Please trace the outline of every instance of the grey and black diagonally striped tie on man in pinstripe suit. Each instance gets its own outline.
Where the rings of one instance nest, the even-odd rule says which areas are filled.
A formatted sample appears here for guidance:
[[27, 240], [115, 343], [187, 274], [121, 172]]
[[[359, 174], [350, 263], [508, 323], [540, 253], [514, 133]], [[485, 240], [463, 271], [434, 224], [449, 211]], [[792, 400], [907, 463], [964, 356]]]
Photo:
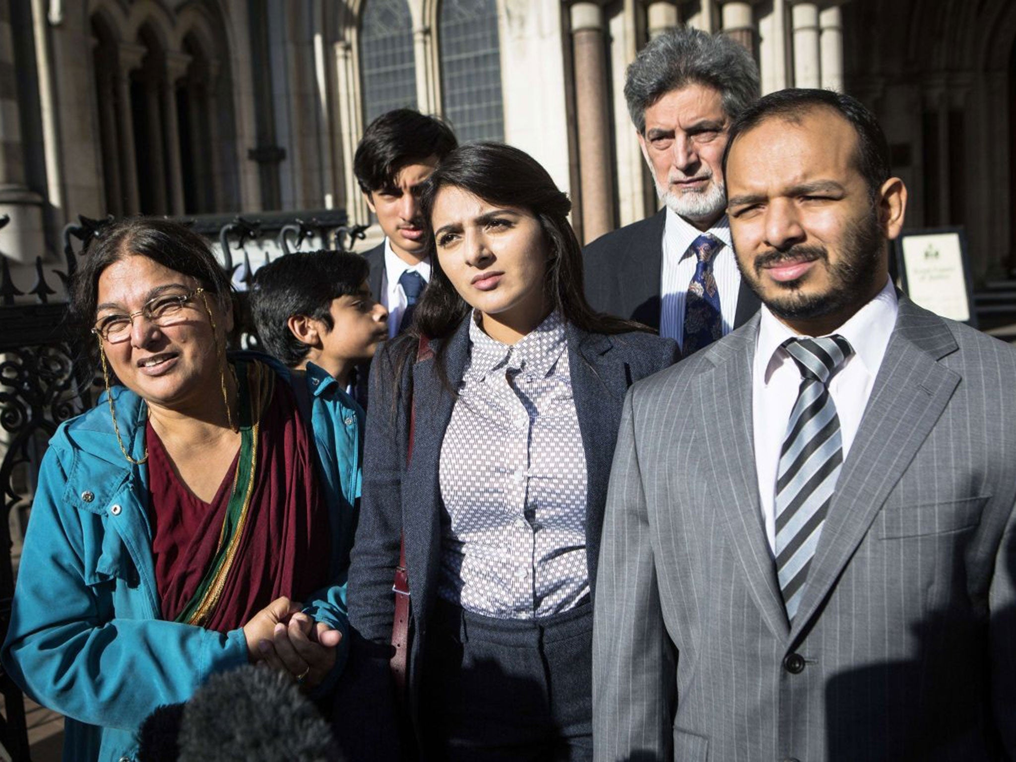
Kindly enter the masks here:
[[843, 464], [829, 379], [853, 350], [840, 335], [791, 338], [782, 347], [801, 371], [776, 470], [776, 576], [792, 622]]

